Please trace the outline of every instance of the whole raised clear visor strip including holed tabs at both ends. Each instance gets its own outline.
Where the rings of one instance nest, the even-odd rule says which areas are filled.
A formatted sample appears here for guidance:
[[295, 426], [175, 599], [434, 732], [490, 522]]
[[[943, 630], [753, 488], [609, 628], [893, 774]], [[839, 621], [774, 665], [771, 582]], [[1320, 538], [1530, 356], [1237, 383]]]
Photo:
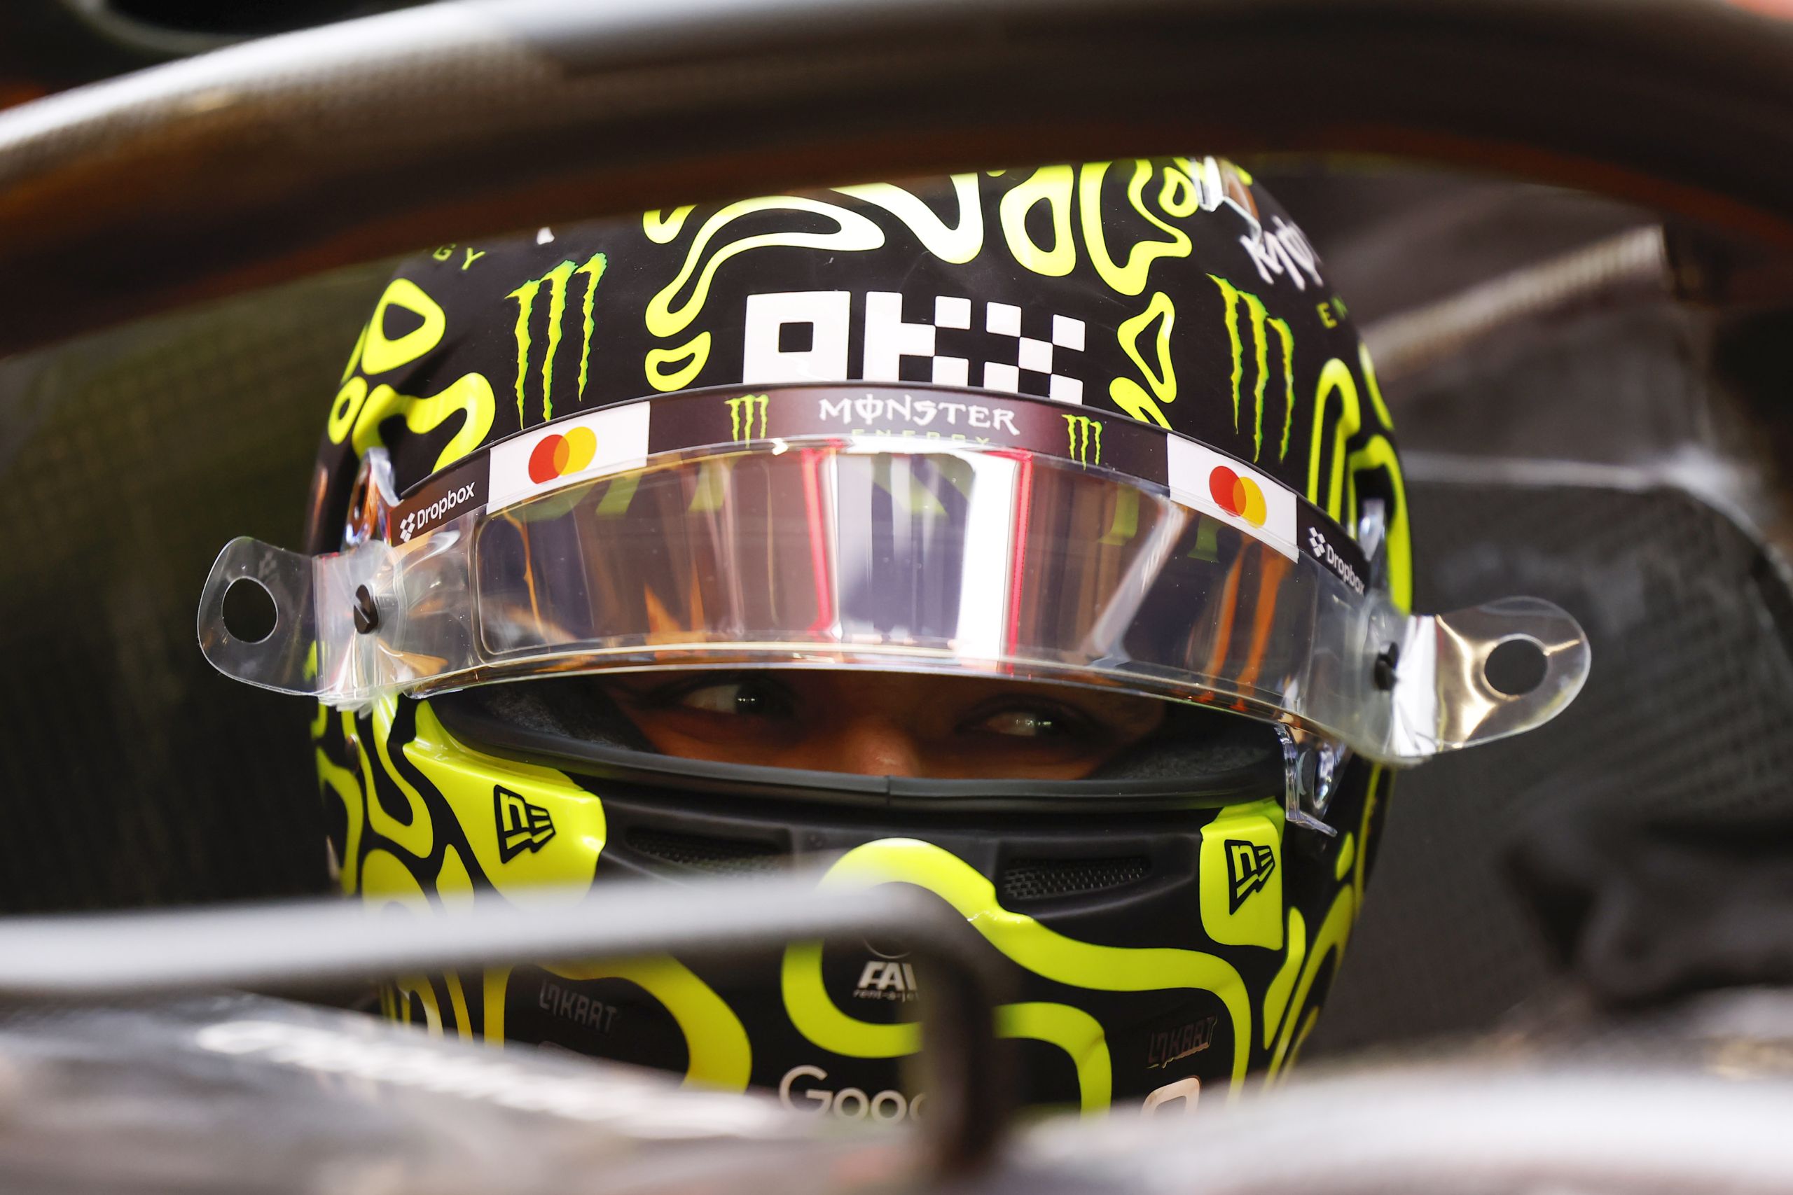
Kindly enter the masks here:
[[[1411, 618], [1257, 530], [1295, 525], [1287, 491], [1187, 500], [1182, 444], [1210, 453], [1173, 439], [1171, 486], [891, 435], [645, 466], [626, 448], [608, 477], [393, 545], [310, 561], [238, 541], [203, 611], [255, 577], [289, 611], [285, 636], [201, 638], [221, 670], [333, 704], [558, 672], [895, 668], [1113, 686], [1293, 722], [1388, 761], [1528, 729], [1580, 690], [1587, 645], [1556, 607]], [[1517, 695], [1483, 674], [1515, 638], [1544, 661]]]

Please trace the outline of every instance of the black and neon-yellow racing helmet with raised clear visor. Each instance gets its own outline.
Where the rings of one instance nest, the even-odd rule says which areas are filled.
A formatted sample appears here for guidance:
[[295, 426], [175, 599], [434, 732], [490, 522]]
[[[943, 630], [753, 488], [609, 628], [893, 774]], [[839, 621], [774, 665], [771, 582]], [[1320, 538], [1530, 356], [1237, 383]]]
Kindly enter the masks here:
[[[278, 611], [260, 640], [224, 616], [242, 584]], [[222, 672], [319, 702], [346, 894], [914, 885], [1009, 973], [1026, 1100], [1097, 1113], [1286, 1073], [1395, 772], [1580, 690], [1560, 609], [1411, 593], [1345, 301], [1246, 170], [1165, 158], [423, 253], [342, 371], [305, 550], [233, 541], [199, 629]], [[669, 754], [604, 684], [692, 670], [1056, 683], [1162, 720], [1069, 779], [868, 776]], [[902, 1120], [916, 987], [864, 941], [412, 976], [382, 1005]]]

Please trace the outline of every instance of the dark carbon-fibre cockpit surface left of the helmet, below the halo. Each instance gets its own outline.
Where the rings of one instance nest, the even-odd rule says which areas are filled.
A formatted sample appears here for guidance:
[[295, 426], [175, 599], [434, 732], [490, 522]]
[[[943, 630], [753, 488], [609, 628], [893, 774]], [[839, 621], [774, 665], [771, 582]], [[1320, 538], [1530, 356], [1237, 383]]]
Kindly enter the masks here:
[[0, 912], [325, 885], [303, 702], [199, 656], [233, 536], [298, 543], [385, 267], [0, 362]]

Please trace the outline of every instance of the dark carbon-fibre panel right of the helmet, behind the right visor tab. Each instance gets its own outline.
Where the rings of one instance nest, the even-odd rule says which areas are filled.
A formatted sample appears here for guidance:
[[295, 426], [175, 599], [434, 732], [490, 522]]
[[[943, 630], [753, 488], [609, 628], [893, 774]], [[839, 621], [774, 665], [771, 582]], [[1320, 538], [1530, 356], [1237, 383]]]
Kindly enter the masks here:
[[1418, 604], [1562, 604], [1594, 670], [1519, 740], [1404, 776], [1375, 883], [1307, 1057], [1488, 1028], [1565, 982], [1503, 856], [1553, 808], [1614, 819], [1793, 810], [1788, 588], [1728, 518], [1678, 491], [1418, 484]]

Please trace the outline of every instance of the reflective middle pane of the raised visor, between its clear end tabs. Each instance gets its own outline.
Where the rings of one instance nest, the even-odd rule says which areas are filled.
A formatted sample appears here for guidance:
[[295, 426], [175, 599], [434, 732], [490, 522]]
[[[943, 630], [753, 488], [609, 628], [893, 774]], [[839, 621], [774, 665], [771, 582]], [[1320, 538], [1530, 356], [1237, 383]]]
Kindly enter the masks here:
[[977, 451], [803, 448], [628, 473], [482, 520], [472, 559], [493, 663], [570, 645], [848, 647], [1128, 686], [1225, 677], [1252, 699], [1311, 656], [1334, 588], [1164, 496]]

